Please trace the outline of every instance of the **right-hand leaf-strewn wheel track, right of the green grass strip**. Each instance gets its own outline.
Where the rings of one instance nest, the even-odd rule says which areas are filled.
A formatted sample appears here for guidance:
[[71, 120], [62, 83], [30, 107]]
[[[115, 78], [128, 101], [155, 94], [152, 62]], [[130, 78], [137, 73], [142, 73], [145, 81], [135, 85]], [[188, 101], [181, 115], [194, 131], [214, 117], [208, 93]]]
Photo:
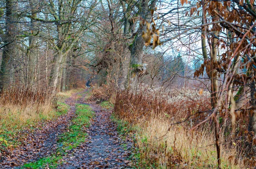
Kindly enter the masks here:
[[[85, 104], [85, 103], [84, 103]], [[129, 169], [131, 142], [120, 138], [116, 124], [111, 120], [111, 110], [98, 104], [88, 104], [95, 117], [87, 129], [87, 140], [73, 152], [63, 157], [59, 169]]]

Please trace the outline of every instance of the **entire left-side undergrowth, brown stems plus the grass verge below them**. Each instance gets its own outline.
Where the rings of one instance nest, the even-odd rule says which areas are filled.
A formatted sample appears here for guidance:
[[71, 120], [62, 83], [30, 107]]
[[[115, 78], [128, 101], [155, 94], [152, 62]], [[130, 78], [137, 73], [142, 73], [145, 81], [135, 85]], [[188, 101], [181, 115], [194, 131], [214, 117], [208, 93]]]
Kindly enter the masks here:
[[56, 94], [51, 90], [14, 88], [0, 95], [0, 153], [6, 147], [20, 145], [21, 130], [33, 130], [39, 122], [67, 113], [64, 100], [80, 90]]

